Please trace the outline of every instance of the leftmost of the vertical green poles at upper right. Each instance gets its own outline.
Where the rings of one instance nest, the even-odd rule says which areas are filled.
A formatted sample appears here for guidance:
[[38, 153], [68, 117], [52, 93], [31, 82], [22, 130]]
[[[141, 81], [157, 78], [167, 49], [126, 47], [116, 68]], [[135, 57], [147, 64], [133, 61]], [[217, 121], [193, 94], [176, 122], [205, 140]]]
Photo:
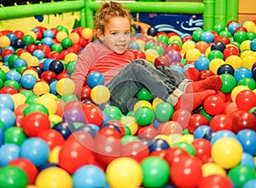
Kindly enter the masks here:
[[214, 25], [214, 0], [204, 0], [203, 30], [212, 30]]

